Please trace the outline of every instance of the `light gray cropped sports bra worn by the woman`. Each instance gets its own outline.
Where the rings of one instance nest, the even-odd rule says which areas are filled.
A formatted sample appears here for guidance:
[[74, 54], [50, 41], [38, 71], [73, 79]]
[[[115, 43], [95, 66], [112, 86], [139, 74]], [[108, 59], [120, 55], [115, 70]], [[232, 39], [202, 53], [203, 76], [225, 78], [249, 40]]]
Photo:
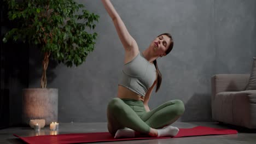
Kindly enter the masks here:
[[124, 64], [118, 85], [124, 86], [144, 97], [155, 79], [155, 65], [148, 62], [143, 53], [139, 52], [131, 62]]

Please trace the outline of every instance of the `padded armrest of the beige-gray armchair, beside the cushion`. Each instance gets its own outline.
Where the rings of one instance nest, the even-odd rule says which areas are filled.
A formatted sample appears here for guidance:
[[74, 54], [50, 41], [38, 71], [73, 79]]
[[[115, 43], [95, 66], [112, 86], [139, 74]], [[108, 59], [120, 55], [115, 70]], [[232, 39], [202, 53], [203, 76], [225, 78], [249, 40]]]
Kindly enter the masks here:
[[244, 91], [249, 81], [249, 74], [217, 74], [211, 78], [212, 100], [219, 92]]

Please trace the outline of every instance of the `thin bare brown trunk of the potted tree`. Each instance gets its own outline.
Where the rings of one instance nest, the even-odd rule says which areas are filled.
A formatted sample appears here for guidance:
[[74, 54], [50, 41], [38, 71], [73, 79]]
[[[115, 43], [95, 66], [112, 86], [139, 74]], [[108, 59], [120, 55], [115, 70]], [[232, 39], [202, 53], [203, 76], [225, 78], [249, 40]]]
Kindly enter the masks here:
[[46, 70], [48, 68], [49, 56], [50, 56], [50, 52], [49, 53], [48, 52], [44, 53], [43, 74], [42, 74], [42, 77], [41, 77], [41, 84], [40, 84], [41, 88], [46, 88], [46, 85], [47, 85]]

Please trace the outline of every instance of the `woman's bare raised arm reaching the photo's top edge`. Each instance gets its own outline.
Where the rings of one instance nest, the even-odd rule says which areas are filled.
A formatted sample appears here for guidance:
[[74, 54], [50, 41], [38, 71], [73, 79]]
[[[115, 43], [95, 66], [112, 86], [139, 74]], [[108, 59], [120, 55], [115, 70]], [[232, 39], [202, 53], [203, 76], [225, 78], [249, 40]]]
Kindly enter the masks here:
[[125, 51], [138, 50], [135, 39], [133, 39], [130, 33], [127, 31], [124, 22], [121, 20], [121, 17], [118, 15], [112, 3], [109, 0], [102, 0], [102, 3], [114, 22], [115, 29], [117, 29], [118, 36], [124, 46]]

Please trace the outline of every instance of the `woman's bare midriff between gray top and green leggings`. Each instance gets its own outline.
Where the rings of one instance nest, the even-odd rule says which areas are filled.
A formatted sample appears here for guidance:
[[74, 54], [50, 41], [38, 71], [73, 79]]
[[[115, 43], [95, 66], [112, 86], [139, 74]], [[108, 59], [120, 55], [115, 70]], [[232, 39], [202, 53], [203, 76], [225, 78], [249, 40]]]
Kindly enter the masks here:
[[130, 89], [120, 86], [120, 85], [118, 86], [118, 98], [144, 101], [144, 97], [142, 97], [141, 95], [138, 95], [137, 93], [132, 92]]

